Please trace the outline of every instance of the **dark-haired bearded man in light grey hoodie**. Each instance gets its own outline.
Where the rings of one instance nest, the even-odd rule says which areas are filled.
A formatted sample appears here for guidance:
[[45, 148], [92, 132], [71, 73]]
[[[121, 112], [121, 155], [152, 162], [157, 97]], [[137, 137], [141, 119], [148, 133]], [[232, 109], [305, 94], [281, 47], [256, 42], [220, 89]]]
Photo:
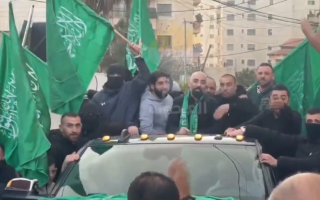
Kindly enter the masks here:
[[140, 131], [144, 134], [164, 134], [173, 99], [168, 94], [169, 75], [155, 71], [149, 78], [149, 87], [141, 97]]

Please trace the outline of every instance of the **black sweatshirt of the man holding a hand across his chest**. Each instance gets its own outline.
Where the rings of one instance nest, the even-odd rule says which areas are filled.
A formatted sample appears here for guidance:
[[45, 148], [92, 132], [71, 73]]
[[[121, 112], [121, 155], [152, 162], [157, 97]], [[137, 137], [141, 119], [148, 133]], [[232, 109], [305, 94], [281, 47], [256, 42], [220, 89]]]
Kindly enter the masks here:
[[239, 125], [253, 116], [258, 112], [252, 101], [248, 98], [239, 98], [234, 95], [229, 98], [224, 98], [221, 94], [214, 96], [217, 100], [217, 105], [229, 104], [229, 111], [220, 120], [223, 131], [228, 127], [234, 127]]

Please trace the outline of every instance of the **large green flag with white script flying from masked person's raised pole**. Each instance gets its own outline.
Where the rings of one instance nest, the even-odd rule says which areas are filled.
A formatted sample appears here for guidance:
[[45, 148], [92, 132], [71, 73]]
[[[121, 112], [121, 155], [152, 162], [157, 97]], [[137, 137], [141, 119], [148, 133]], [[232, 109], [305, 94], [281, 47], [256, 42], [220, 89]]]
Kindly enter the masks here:
[[112, 25], [82, 1], [46, 1], [46, 53], [52, 112], [78, 112], [112, 39]]

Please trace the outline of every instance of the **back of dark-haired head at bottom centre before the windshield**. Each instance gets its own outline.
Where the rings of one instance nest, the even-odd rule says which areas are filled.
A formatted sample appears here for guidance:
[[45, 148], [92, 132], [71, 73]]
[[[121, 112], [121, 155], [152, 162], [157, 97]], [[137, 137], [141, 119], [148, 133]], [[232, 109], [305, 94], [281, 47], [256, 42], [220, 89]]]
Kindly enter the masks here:
[[143, 172], [130, 183], [128, 200], [179, 200], [173, 180], [158, 172]]

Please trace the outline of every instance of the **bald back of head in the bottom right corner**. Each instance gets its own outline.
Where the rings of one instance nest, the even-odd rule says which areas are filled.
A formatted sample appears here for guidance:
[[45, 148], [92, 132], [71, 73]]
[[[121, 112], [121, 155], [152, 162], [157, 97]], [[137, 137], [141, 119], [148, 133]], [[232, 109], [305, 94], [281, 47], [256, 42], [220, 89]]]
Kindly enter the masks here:
[[298, 173], [280, 182], [270, 194], [269, 200], [318, 200], [320, 199], [320, 175]]

